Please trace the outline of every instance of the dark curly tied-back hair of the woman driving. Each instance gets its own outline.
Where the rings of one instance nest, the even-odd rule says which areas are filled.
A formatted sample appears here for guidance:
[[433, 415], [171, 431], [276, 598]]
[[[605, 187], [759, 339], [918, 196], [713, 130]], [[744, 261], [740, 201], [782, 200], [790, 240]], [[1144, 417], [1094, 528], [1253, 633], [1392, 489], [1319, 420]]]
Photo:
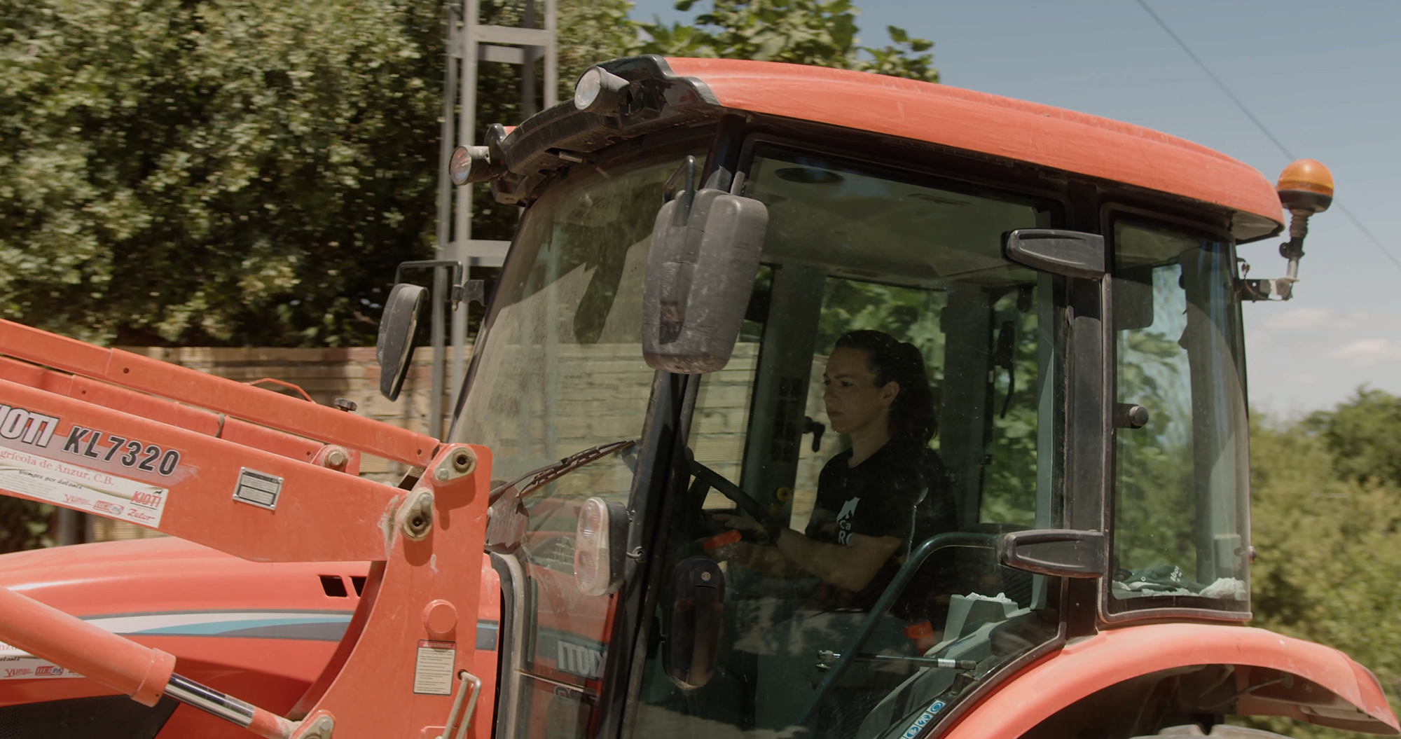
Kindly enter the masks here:
[[836, 340], [835, 349], [859, 349], [866, 353], [876, 386], [899, 385], [899, 395], [890, 404], [891, 435], [929, 444], [939, 432], [934, 417], [934, 392], [925, 372], [925, 356], [915, 344], [899, 342], [878, 330], [855, 330]]

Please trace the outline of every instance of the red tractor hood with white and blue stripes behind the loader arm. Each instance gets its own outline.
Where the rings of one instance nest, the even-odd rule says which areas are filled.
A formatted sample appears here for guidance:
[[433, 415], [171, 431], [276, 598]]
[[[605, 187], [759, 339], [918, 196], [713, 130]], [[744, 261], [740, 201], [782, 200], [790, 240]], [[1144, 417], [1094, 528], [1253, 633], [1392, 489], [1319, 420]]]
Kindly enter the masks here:
[[[368, 568], [254, 563], [163, 537], [6, 554], [0, 586], [170, 652], [181, 675], [286, 714], [336, 651]], [[499, 588], [486, 556], [482, 586], [488, 593]], [[483, 676], [482, 715], [490, 715], [493, 700], [499, 607], [497, 598], [482, 598], [475, 626], [471, 669]], [[50, 662], [0, 652], [0, 707], [112, 694]], [[249, 733], [181, 705], [158, 736]]]

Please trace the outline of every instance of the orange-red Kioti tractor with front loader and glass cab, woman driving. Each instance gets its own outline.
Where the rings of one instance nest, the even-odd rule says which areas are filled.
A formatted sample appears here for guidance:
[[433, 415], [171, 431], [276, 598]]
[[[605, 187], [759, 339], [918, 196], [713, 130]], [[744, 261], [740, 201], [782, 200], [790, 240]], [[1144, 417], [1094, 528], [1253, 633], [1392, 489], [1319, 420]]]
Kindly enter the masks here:
[[646, 56], [451, 172], [525, 210], [446, 441], [0, 323], [0, 488], [172, 536], [0, 558], [0, 738], [1398, 733], [1245, 626], [1241, 302], [1317, 162]]

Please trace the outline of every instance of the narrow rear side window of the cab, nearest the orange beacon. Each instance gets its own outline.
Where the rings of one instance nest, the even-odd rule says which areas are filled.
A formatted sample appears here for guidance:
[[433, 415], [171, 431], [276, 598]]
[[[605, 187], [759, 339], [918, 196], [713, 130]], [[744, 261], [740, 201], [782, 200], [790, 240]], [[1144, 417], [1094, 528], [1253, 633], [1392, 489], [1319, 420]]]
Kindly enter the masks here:
[[1149, 414], [1115, 431], [1114, 598], [1245, 610], [1245, 374], [1230, 245], [1147, 224], [1114, 232], [1117, 399]]

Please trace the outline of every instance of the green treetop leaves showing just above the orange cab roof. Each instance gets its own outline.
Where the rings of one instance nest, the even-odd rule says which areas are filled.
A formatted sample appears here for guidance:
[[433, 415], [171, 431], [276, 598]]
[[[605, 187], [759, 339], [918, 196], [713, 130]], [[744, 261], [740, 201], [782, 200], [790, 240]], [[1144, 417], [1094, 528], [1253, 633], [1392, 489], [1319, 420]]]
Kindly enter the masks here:
[[[691, 10], [695, 0], [679, 0], [677, 10]], [[640, 24], [650, 36], [644, 53], [757, 59], [821, 67], [874, 71], [892, 77], [939, 81], [933, 42], [909, 38], [901, 28], [887, 28], [891, 43], [860, 46], [856, 6], [850, 0], [713, 0], [695, 25]]]

